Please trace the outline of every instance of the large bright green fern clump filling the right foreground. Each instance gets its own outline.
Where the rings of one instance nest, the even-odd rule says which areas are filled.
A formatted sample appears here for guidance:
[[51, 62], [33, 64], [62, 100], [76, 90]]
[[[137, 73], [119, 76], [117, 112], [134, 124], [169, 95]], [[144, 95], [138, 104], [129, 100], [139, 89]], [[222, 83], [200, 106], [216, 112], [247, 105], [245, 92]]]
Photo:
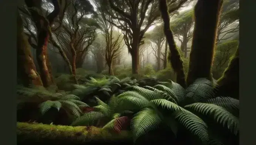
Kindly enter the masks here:
[[207, 79], [197, 79], [186, 90], [175, 82], [160, 82], [145, 88], [132, 86], [132, 89], [134, 91], [116, 97], [119, 102], [116, 110], [138, 112], [131, 120], [135, 140], [164, 123], [174, 134], [177, 130], [172, 124], [180, 124], [202, 142], [208, 142], [212, 137], [207, 128], [212, 124], [206, 124], [208, 120], [199, 117], [201, 115], [213, 117], [212, 121], [216, 124], [235, 135], [238, 133], [238, 119], [228, 111], [230, 108], [238, 110], [238, 104], [228, 97], [222, 97], [225, 103], [219, 103], [220, 99], [213, 98], [212, 82]]

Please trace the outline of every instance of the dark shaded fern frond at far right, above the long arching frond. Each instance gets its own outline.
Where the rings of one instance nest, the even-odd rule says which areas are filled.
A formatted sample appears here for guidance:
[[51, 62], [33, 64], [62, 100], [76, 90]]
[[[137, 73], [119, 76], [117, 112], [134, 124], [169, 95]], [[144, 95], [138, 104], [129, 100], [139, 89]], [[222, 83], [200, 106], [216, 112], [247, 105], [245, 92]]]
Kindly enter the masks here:
[[239, 116], [239, 100], [231, 97], [216, 97], [206, 100], [205, 103], [215, 104], [225, 108], [236, 117]]

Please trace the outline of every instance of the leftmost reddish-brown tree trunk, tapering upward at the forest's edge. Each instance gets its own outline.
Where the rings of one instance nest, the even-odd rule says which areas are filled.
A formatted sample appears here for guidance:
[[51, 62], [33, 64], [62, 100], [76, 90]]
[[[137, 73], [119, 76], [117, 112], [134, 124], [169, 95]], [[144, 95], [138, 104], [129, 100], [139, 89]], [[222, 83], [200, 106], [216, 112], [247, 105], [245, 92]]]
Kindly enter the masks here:
[[23, 24], [20, 14], [17, 16], [17, 70], [18, 78], [24, 86], [43, 86], [40, 75], [36, 71], [36, 66], [31, 56], [30, 45], [23, 32]]

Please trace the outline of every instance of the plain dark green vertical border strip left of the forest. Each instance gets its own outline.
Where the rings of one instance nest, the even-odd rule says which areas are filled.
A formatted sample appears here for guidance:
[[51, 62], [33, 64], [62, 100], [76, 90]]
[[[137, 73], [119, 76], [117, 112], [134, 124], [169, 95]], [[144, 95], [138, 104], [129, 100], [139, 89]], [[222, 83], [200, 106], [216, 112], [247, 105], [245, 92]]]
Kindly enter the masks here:
[[17, 0], [1, 0], [0, 15], [0, 144], [16, 145]]

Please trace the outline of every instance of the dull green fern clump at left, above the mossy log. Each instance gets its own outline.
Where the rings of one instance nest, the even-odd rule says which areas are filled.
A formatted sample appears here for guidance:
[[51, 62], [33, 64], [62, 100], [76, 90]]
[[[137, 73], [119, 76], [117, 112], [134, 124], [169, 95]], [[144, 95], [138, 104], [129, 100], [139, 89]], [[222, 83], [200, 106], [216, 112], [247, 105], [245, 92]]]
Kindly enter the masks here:
[[79, 117], [82, 113], [80, 107], [88, 106], [81, 102], [78, 96], [67, 94], [67, 92], [51, 92], [43, 87], [25, 88], [18, 86], [18, 107], [22, 107], [25, 103], [34, 103], [38, 105], [42, 115], [51, 108], [58, 111], [64, 109], [67, 114]]

